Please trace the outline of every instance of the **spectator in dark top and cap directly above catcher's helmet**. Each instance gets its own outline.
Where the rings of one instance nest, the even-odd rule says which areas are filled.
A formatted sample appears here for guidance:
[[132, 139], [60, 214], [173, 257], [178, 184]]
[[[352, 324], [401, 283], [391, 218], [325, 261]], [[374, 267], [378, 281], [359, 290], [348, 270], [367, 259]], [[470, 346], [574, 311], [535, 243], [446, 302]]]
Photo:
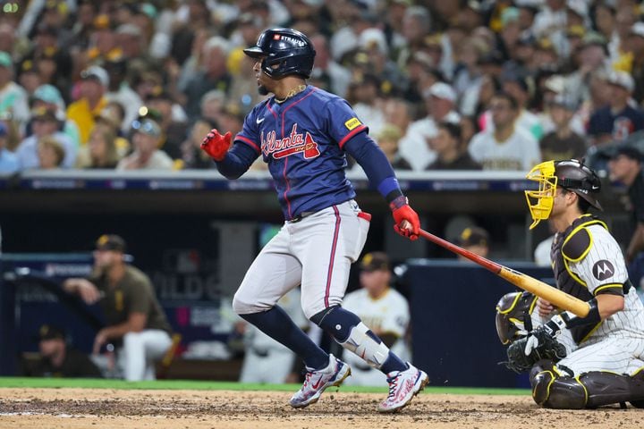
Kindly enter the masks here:
[[555, 130], [539, 141], [542, 159], [581, 159], [586, 154], [586, 140], [571, 130], [577, 103], [570, 96], [557, 94], [549, 104], [550, 119], [555, 124]]

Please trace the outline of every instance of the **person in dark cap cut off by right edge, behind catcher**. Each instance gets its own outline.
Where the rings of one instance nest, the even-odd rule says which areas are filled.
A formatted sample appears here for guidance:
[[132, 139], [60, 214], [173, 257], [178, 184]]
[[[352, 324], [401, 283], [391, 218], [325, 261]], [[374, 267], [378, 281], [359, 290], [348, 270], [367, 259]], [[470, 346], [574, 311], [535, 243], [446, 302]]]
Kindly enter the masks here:
[[631, 241], [624, 258], [631, 264], [644, 250], [644, 172], [641, 169], [642, 154], [636, 147], [618, 147], [608, 162], [610, 180], [628, 187], [628, 195], [634, 219]]

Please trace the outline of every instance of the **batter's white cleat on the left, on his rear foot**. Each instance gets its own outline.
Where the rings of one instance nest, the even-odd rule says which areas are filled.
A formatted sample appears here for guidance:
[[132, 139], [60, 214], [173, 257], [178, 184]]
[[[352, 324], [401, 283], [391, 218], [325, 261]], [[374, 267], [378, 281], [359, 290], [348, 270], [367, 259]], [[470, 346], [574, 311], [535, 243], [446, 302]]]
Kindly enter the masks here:
[[304, 408], [319, 400], [327, 387], [339, 386], [351, 375], [351, 367], [333, 355], [329, 355], [329, 365], [323, 369], [306, 368], [306, 378], [299, 391], [296, 391], [289, 403], [292, 408]]

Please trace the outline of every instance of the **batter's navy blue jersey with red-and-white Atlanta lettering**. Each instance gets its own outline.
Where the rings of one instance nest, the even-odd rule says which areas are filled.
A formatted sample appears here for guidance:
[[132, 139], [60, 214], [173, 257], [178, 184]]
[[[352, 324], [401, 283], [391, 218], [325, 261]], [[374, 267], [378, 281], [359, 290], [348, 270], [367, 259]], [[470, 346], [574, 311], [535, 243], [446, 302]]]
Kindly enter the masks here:
[[290, 220], [355, 197], [344, 174], [343, 145], [367, 130], [345, 100], [309, 85], [283, 103], [270, 97], [256, 105], [235, 141], [268, 164]]

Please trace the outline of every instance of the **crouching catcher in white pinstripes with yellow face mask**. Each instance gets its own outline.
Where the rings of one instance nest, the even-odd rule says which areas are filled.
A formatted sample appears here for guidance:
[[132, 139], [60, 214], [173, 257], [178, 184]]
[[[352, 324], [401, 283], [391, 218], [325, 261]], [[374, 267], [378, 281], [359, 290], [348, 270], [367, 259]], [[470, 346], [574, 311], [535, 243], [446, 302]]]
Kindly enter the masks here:
[[[601, 184], [577, 160], [548, 161], [528, 174], [534, 228], [548, 219], [556, 234], [550, 252], [556, 287], [587, 301], [589, 315], [560, 311], [528, 292], [496, 306], [496, 330], [508, 348], [507, 366], [530, 371], [532, 397], [547, 408], [597, 408], [620, 403], [644, 408], [644, 306], [601, 210]], [[534, 326], [535, 329], [532, 329]]]

